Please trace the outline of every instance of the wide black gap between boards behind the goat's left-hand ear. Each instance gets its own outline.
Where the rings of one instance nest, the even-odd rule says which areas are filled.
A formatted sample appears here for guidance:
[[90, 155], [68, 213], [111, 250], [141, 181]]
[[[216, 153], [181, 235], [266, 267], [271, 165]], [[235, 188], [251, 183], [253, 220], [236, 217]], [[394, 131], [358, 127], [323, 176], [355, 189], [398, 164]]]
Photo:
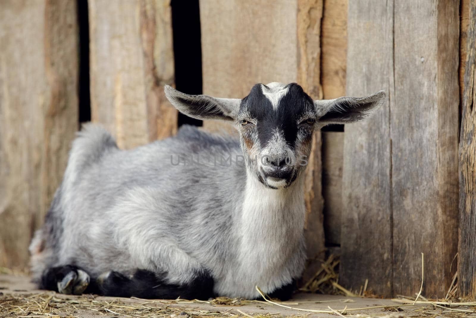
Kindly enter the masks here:
[[[187, 94], [202, 93], [202, 47], [198, 0], [172, 0], [175, 85]], [[202, 121], [178, 114], [178, 126], [201, 126]]]

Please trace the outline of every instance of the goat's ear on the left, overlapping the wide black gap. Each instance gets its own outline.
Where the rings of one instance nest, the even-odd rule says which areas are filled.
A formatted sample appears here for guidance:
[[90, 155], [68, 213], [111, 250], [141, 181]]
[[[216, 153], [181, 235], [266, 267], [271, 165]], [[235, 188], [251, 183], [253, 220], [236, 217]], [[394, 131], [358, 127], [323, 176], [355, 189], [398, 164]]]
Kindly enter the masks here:
[[234, 120], [241, 103], [237, 98], [188, 95], [178, 92], [169, 85], [165, 85], [164, 91], [167, 99], [180, 113], [196, 119]]

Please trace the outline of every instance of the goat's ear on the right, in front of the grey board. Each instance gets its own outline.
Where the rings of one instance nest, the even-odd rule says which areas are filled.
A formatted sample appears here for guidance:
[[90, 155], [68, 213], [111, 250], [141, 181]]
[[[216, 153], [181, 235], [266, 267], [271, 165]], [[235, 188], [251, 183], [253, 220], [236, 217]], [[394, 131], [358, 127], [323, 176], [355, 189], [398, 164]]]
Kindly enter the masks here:
[[372, 116], [385, 102], [385, 92], [380, 91], [367, 97], [339, 97], [331, 100], [314, 101], [319, 123], [355, 123]]

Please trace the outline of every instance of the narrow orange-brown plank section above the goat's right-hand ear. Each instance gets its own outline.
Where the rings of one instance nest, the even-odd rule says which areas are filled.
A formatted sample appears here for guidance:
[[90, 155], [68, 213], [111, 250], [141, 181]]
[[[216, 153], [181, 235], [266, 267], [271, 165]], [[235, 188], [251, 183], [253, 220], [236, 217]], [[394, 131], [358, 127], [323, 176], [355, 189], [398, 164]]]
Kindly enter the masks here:
[[324, 1], [321, 84], [325, 99], [346, 94], [348, 0]]

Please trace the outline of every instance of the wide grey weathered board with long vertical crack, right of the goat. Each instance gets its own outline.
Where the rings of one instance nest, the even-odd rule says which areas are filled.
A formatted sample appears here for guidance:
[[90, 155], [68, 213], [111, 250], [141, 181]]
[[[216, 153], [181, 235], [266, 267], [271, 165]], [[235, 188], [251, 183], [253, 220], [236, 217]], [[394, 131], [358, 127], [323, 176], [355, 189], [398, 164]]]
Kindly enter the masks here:
[[[349, 2], [347, 94], [384, 89], [346, 125], [342, 284], [444, 297], [456, 268], [459, 3]], [[385, 239], [384, 239], [385, 238]], [[371, 266], [370, 266], [371, 265]], [[356, 275], [358, 273], [358, 275]]]

